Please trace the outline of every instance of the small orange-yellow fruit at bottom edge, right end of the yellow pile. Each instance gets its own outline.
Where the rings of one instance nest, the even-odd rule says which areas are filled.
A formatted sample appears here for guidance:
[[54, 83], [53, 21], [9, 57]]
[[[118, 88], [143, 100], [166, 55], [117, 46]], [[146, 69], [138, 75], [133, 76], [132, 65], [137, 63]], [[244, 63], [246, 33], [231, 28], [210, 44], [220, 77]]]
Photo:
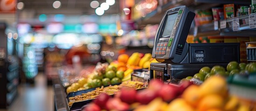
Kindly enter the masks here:
[[230, 96], [228, 102], [226, 103], [224, 110], [225, 111], [235, 111], [239, 105], [239, 100], [235, 96]]

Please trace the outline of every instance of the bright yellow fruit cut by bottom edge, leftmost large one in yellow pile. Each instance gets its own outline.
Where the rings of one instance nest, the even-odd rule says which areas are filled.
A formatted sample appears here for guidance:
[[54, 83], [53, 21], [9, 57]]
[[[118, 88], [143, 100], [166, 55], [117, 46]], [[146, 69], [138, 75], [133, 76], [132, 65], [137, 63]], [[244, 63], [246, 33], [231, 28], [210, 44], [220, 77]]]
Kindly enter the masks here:
[[194, 111], [184, 99], [174, 99], [166, 108], [166, 111]]

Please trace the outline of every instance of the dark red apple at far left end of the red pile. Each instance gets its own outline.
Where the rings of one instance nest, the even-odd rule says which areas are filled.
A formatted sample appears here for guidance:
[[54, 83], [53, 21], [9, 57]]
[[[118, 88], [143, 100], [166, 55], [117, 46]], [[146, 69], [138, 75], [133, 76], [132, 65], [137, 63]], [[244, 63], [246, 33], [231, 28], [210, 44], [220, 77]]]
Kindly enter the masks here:
[[94, 99], [93, 102], [100, 106], [102, 109], [106, 108], [106, 103], [110, 99], [110, 96], [106, 93], [101, 93], [97, 99]]

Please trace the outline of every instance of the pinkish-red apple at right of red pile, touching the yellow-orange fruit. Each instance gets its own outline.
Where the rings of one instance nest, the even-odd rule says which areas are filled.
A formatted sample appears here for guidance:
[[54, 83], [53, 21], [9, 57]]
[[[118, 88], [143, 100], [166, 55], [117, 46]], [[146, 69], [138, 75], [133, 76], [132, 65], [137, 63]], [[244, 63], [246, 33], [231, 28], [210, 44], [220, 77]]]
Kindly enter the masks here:
[[161, 97], [164, 101], [170, 102], [172, 99], [176, 98], [179, 93], [179, 89], [174, 86], [165, 84], [158, 91], [158, 96]]

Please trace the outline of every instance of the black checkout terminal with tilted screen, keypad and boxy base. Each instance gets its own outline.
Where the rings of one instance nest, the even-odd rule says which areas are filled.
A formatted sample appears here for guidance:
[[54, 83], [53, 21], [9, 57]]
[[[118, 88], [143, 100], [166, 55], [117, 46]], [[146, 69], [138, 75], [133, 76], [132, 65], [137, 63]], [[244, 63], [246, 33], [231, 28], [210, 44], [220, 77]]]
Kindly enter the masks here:
[[193, 76], [204, 67], [240, 62], [239, 43], [187, 43], [195, 13], [186, 6], [166, 11], [155, 37], [150, 78], [161, 81]]

